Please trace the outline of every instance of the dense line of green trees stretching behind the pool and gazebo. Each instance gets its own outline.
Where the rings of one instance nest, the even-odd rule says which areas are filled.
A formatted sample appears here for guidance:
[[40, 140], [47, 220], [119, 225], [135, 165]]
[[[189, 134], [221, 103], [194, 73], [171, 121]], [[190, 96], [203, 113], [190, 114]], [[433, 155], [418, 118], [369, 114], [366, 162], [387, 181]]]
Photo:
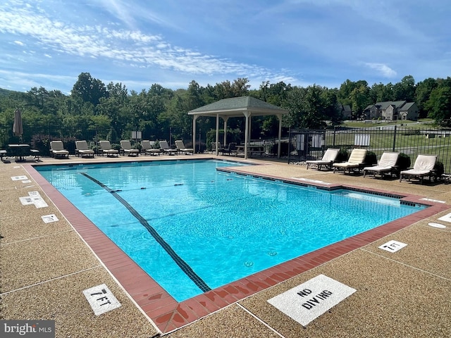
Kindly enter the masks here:
[[[193, 80], [187, 89], [174, 91], [152, 84], [139, 93], [129, 93], [121, 83], [105, 85], [89, 73], [80, 73], [70, 95], [44, 87], [32, 87], [28, 92], [0, 89], [0, 146], [16, 142], [11, 128], [13, 112], [18, 107], [23, 112], [24, 142], [44, 139], [42, 135], [47, 139], [63, 136], [94, 139], [93, 134], [97, 139], [118, 142], [126, 138], [126, 130], [137, 129], [151, 135], [152, 139], [171, 131], [173, 137], [191, 140], [192, 116], [187, 115], [188, 111], [220, 99], [247, 95], [288, 108], [290, 115], [283, 118], [284, 130], [288, 127], [322, 129], [326, 127], [326, 121], [337, 125], [342, 118], [342, 104], [350, 105], [357, 118], [367, 105], [376, 101], [412, 98], [416, 100], [421, 116], [429, 115], [442, 126], [451, 125], [451, 77], [428, 78], [415, 85], [414, 78], [407, 75], [399, 83], [380, 83], [371, 87], [364, 80], [346, 80], [339, 89], [316, 84], [292, 87], [284, 82], [270, 84], [268, 81], [262, 82], [259, 89], [250, 89], [247, 78], [202, 87]], [[216, 128], [216, 118], [199, 118], [196, 124], [196, 133], [201, 132], [202, 142], [204, 139], [207, 144], [213, 142], [207, 131]], [[223, 127], [222, 119], [220, 124]], [[242, 143], [244, 127], [243, 118], [228, 119], [228, 142]], [[251, 138], [260, 137], [278, 137], [277, 118], [252, 118]]]

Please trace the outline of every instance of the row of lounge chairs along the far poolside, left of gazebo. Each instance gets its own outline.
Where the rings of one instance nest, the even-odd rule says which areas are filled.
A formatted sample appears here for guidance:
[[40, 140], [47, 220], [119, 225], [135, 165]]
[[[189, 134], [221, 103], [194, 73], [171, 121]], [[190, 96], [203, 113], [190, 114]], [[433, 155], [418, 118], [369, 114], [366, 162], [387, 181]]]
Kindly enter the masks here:
[[[175, 146], [177, 149], [171, 149], [167, 141], [159, 141], [159, 148], [156, 148], [156, 142], [143, 140], [142, 151], [146, 155], [159, 155], [159, 154], [169, 154], [175, 155], [179, 153], [183, 154], [193, 154], [194, 149], [186, 148], [182, 140], [175, 141]], [[99, 142], [99, 151], [101, 156], [117, 157], [120, 154], [118, 149], [113, 149], [109, 141]], [[132, 148], [130, 141], [121, 141], [121, 151], [124, 155], [128, 156], [138, 156], [140, 154], [139, 149]], [[50, 142], [50, 154], [54, 158], [68, 158], [69, 151], [64, 148], [62, 141], [51, 141]], [[94, 157], [94, 150], [89, 149], [86, 141], [75, 141], [75, 155], [82, 157]]]

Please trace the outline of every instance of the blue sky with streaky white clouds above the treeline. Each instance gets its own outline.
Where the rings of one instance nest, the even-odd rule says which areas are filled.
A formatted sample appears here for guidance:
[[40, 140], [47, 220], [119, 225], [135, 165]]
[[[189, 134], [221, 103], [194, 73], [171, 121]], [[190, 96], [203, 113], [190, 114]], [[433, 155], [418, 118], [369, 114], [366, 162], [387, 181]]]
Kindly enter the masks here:
[[451, 76], [450, 0], [2, 0], [0, 88]]

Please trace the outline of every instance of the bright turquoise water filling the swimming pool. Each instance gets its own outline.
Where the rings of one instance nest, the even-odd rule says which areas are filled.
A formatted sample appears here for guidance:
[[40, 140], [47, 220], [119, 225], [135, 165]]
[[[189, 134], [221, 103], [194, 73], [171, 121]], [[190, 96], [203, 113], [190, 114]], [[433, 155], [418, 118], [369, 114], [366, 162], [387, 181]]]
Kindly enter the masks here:
[[423, 208], [216, 170], [236, 165], [35, 168], [177, 301]]

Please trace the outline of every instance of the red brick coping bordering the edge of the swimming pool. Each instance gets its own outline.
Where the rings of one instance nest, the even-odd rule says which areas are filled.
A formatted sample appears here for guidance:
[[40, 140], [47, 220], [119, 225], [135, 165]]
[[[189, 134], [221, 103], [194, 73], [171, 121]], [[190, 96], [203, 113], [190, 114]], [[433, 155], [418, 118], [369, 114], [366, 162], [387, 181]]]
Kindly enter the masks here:
[[[205, 315], [214, 313], [252, 294], [288, 280], [295, 275], [299, 275], [299, 273], [304, 273], [311, 268], [327, 263], [345, 253], [371, 244], [388, 234], [393, 234], [393, 232], [408, 227], [419, 220], [423, 220], [450, 208], [446, 204], [420, 200], [421, 196], [397, 194], [404, 196], [402, 199], [404, 201], [409, 201], [414, 204], [424, 204], [428, 208], [178, 303], [152, 277], [147, 275], [144, 270], [132, 261], [127, 254], [111, 242], [111, 239], [106, 237], [78, 208], [75, 208], [66, 197], [47, 182], [35, 170], [33, 165], [24, 164], [23, 167], [66, 217], [80, 237], [99, 257], [100, 261], [106, 266], [113, 277], [122, 285], [123, 289], [128, 292], [130, 297], [140, 306], [142, 311], [162, 333], [168, 333], [190, 324]], [[252, 175], [250, 173], [248, 174]], [[288, 181], [285, 178], [272, 177], [277, 180]], [[292, 181], [295, 182], [295, 180]], [[311, 182], [308, 184], [316, 185]], [[317, 185], [324, 187], [322, 184]], [[338, 184], [333, 185], [335, 187], [338, 186]], [[362, 189], [362, 187], [341, 187], [370, 191], [370, 189]], [[381, 194], [391, 194], [377, 189], [371, 189], [371, 191]]]

